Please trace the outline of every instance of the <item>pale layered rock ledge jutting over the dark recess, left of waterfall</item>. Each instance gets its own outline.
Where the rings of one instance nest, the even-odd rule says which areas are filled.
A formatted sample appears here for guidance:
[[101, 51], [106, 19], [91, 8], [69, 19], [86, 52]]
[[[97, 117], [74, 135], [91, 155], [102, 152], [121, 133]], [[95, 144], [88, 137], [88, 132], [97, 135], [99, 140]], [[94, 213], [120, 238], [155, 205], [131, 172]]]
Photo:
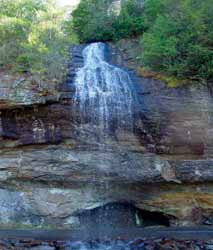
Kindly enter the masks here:
[[0, 72], [0, 109], [41, 105], [58, 100], [57, 84], [27, 74]]

